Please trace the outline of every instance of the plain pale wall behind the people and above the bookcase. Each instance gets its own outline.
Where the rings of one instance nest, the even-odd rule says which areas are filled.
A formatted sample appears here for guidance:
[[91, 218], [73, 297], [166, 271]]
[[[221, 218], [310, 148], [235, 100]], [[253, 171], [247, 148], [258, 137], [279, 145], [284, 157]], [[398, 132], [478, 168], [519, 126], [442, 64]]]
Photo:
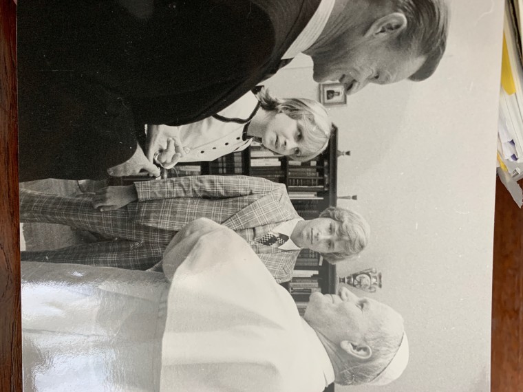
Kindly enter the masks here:
[[[502, 1], [453, 1], [447, 52], [423, 83], [367, 87], [330, 109], [339, 126], [340, 200], [372, 242], [339, 274], [374, 266], [372, 298], [400, 312], [409, 367], [385, 387], [337, 391], [489, 391], [491, 261]], [[265, 83], [318, 98], [308, 58]]]

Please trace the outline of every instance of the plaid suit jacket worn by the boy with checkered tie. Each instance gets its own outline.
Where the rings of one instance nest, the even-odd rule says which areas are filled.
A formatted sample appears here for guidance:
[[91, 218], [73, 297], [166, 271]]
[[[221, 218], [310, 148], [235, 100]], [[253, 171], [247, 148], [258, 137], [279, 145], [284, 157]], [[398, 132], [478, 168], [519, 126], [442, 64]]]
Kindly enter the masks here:
[[235, 230], [258, 254], [276, 281], [290, 280], [299, 250], [257, 243], [284, 221], [299, 218], [286, 186], [257, 177], [200, 175], [136, 182], [138, 202], [127, 206], [136, 224], [178, 231], [200, 217]]

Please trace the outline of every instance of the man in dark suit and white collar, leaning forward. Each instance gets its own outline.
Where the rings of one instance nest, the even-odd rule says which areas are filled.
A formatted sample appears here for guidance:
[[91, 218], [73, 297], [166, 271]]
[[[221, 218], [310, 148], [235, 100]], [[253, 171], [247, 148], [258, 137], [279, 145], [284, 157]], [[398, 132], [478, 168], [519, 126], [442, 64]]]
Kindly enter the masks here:
[[143, 124], [212, 116], [300, 52], [348, 94], [423, 80], [445, 50], [443, 1], [21, 3], [21, 181], [156, 175]]

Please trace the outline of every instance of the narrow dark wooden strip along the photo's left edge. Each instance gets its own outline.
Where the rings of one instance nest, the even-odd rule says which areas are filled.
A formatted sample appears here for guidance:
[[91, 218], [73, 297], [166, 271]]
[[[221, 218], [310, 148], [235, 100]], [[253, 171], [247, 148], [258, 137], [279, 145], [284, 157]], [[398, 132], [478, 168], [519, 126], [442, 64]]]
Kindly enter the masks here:
[[16, 11], [0, 0], [0, 390], [21, 391]]

